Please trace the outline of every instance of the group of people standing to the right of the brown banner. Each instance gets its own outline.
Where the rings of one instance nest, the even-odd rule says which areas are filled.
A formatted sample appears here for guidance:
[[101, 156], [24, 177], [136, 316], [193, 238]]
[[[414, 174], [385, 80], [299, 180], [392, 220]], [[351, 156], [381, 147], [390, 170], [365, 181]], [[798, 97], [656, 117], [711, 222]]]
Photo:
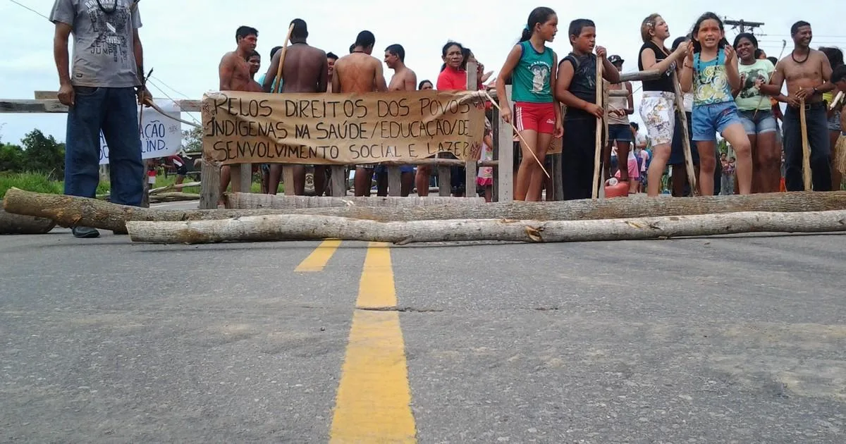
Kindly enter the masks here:
[[[634, 104], [630, 96], [611, 100], [608, 110], [596, 104], [596, 89], [602, 87], [597, 85], [596, 63], [603, 63], [604, 81], [619, 84], [622, 59], [607, 58], [606, 49], [596, 46], [596, 25], [590, 19], [575, 19], [568, 30], [572, 51], [559, 61], [546, 45], [557, 32], [555, 12], [535, 8], [497, 77], [497, 91], [504, 91], [511, 80], [511, 97], [501, 94], [499, 102], [503, 119], [514, 122], [522, 140], [515, 199], [541, 200], [540, 165], [552, 138], [562, 136], [564, 199], [590, 198], [595, 186], [596, 120], [606, 115], [607, 139], [619, 159], [618, 178], [631, 181], [630, 190], [637, 189], [634, 180], [640, 172], [629, 167], [636, 159], [630, 156], [632, 133], [625, 127]], [[786, 189], [804, 189], [799, 107], [805, 107], [807, 116], [813, 189], [839, 188], [840, 175], [832, 172], [832, 146], [841, 134], [842, 118], [830, 108], [832, 90], [843, 89], [835, 85], [842, 79], [838, 67], [843, 65], [843, 55], [837, 48], [824, 48], [826, 52], [811, 49], [811, 28], [805, 21], [796, 22], [790, 34], [794, 49], [779, 61], [766, 58], [751, 34], [740, 34], [729, 44], [722, 19], [713, 13], [702, 14], [689, 36], [678, 37], [672, 49], [666, 46], [670, 37], [667, 22], [659, 14], [643, 20], [638, 69], [661, 73], [656, 79], [642, 81], [640, 117], [652, 149], [647, 195], [659, 194], [668, 165], [673, 166], [674, 194], [684, 194], [684, 137], [692, 147], [699, 194], [716, 194], [715, 177], [722, 173], [717, 165], [717, 134], [735, 153], [739, 194], [779, 191], [782, 145]], [[781, 92], [785, 81], [786, 96]], [[618, 88], [631, 91], [628, 83]], [[684, 95], [686, 135], [676, 112], [679, 92]], [[509, 99], [514, 101], [513, 113]], [[779, 102], [787, 104], [783, 116]], [[565, 112], [559, 104], [566, 107]], [[783, 137], [777, 118], [783, 120]], [[606, 167], [610, 176], [608, 163]]]

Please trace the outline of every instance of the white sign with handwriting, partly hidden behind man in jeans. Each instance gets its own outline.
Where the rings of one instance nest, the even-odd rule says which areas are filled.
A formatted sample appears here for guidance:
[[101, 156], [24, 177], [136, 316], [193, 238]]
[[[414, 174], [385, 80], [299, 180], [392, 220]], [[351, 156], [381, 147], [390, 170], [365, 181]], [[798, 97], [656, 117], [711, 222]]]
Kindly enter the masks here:
[[[169, 116], [179, 118], [179, 106], [173, 101], [156, 100], [158, 107]], [[140, 112], [140, 107], [139, 107]], [[141, 114], [141, 158], [173, 156], [182, 150], [182, 123], [162, 115], [153, 108], [144, 108]], [[108, 163], [108, 145], [100, 132], [100, 164]]]

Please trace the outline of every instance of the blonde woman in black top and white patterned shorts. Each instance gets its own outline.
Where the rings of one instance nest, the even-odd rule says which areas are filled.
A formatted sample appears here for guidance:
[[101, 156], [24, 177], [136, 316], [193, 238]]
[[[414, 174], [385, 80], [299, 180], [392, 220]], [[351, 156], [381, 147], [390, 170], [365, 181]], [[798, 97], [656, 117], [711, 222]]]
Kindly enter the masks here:
[[640, 71], [656, 70], [661, 73], [658, 79], [643, 80], [643, 98], [640, 101], [640, 118], [646, 126], [646, 134], [652, 143], [652, 162], [646, 173], [646, 194], [654, 197], [661, 189], [661, 177], [670, 158], [675, 127], [675, 96], [673, 71], [677, 69], [679, 59], [687, 54], [687, 46], [679, 45], [670, 52], [664, 45], [670, 37], [667, 22], [661, 15], [650, 14], [640, 25], [640, 37], [643, 46], [638, 55]]

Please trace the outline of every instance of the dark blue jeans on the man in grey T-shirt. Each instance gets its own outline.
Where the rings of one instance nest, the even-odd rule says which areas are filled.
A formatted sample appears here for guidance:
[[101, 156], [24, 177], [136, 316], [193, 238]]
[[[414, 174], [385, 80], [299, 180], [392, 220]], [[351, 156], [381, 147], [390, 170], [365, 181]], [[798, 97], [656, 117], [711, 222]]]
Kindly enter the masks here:
[[113, 203], [140, 206], [144, 164], [134, 88], [74, 87], [64, 148], [64, 194], [95, 197], [100, 183], [100, 131], [109, 151]]

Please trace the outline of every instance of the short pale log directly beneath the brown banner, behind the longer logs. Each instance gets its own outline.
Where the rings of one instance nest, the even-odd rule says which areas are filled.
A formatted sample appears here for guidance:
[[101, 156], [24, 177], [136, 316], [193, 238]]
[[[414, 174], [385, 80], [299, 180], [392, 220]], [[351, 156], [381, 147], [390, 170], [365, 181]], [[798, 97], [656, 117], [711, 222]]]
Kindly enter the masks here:
[[[253, 209], [275, 208], [290, 210], [297, 208], [330, 208], [338, 206], [398, 207], [406, 209], [413, 206], [470, 206], [485, 203], [485, 198], [464, 197], [321, 197], [321, 196], [280, 196], [260, 195], [255, 193], [226, 193], [224, 201], [227, 208]], [[283, 211], [280, 211], [283, 212]]]

